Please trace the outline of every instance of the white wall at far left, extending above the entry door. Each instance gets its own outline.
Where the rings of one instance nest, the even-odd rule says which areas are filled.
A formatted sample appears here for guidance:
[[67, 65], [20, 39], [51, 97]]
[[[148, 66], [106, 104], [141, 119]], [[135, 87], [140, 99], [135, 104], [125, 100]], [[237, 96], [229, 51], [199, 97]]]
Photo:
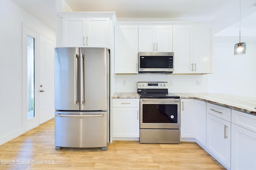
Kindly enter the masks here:
[[55, 31], [10, 0], [0, 6], [0, 145], [24, 133], [22, 24], [55, 41]]

